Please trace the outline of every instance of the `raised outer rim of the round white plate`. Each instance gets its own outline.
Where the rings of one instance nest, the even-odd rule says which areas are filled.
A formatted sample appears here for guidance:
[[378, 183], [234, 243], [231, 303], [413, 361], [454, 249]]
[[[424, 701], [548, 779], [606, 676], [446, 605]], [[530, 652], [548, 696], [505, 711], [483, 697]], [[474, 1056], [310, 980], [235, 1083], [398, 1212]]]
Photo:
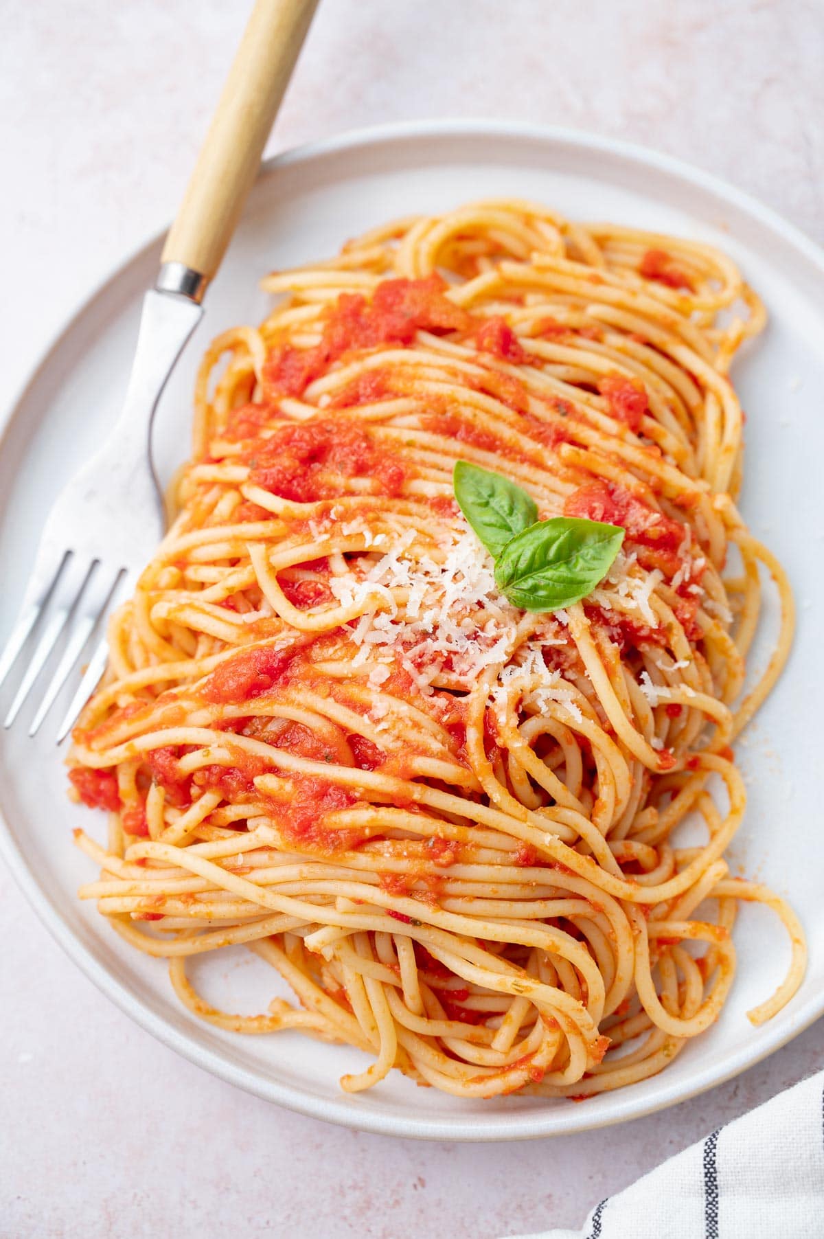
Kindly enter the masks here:
[[[625, 162], [632, 162], [641, 167], [652, 167], [668, 173], [674, 180], [686, 181], [691, 186], [714, 196], [721, 202], [734, 206], [737, 211], [755, 218], [767, 229], [777, 233], [789, 243], [800, 256], [810, 263], [824, 279], [824, 248], [817, 244], [800, 228], [762, 203], [753, 195], [737, 188], [722, 177], [708, 172], [677, 156], [657, 151], [638, 142], [613, 139], [590, 133], [587, 130], [574, 129], [561, 125], [537, 125], [523, 121], [493, 120], [493, 119], [434, 119], [434, 120], [406, 120], [389, 124], [363, 126], [344, 130], [318, 141], [305, 142], [285, 150], [263, 161], [259, 178], [270, 175], [280, 167], [291, 167], [322, 159], [342, 151], [380, 147], [387, 144], [408, 141], [410, 139], [460, 139], [472, 136], [480, 139], [512, 138], [514, 140], [533, 140], [548, 147], [563, 146], [570, 150], [584, 150], [587, 154], [605, 154], [617, 156]], [[164, 232], [154, 234], [150, 239], [139, 243], [130, 249], [124, 259], [110, 269], [103, 279], [98, 280], [84, 292], [66, 313], [61, 327], [51, 335], [38, 359], [31, 368], [28, 375], [19, 385], [16, 393], [2, 410], [2, 425], [0, 429], [0, 451], [2, 451], [10, 431], [15, 426], [20, 406], [33, 384], [38, 380], [52, 361], [53, 354], [61, 347], [64, 337], [76, 326], [77, 321], [87, 315], [94, 302], [104, 296], [110, 286], [123, 279], [124, 274], [133, 265], [142, 263], [152, 249], [159, 248]], [[32, 911], [40, 922], [48, 930], [55, 942], [63, 949], [68, 958], [89, 978], [97, 989], [112, 1000], [130, 1020], [139, 1027], [151, 1033], [157, 1041], [170, 1049], [181, 1054], [195, 1066], [208, 1070], [218, 1079], [228, 1084], [242, 1088], [264, 1100], [283, 1105], [286, 1109], [304, 1114], [307, 1118], [321, 1119], [338, 1126], [351, 1127], [374, 1135], [389, 1135], [418, 1140], [451, 1140], [463, 1142], [487, 1142], [497, 1140], [529, 1140], [543, 1139], [545, 1136], [570, 1135], [579, 1131], [589, 1131], [639, 1119], [658, 1110], [667, 1109], [690, 1098], [698, 1097], [708, 1089], [734, 1078], [741, 1072], [755, 1067], [771, 1053], [794, 1040], [800, 1032], [808, 1028], [819, 1016], [824, 1015], [824, 989], [820, 994], [813, 994], [807, 1002], [788, 1020], [781, 1028], [769, 1036], [767, 1027], [763, 1041], [750, 1047], [746, 1052], [734, 1053], [725, 1068], [721, 1070], [705, 1069], [696, 1073], [693, 1085], [679, 1089], [675, 1095], [651, 1098], [648, 1101], [633, 1101], [632, 1090], [621, 1090], [616, 1097], [621, 1103], [616, 1111], [595, 1119], [586, 1118], [586, 1108], [581, 1110], [575, 1106], [564, 1111], [564, 1121], [559, 1124], [559, 1110], [530, 1109], [523, 1113], [508, 1114], [503, 1119], [489, 1123], [483, 1118], [473, 1115], [471, 1118], [456, 1116], [455, 1120], [439, 1118], [426, 1118], [425, 1111], [413, 1119], [394, 1118], [392, 1111], [382, 1114], [379, 1111], [358, 1113], [349, 1106], [352, 1100], [341, 1094], [333, 1100], [320, 1098], [305, 1093], [299, 1087], [283, 1084], [274, 1079], [263, 1080], [254, 1072], [248, 1070], [242, 1064], [230, 1061], [191, 1037], [175, 1028], [162, 1015], [156, 1012], [147, 1002], [139, 999], [116, 975], [97, 959], [92, 949], [82, 938], [76, 934], [63, 919], [57, 906], [52, 902], [46, 890], [38, 882], [35, 872], [30, 869], [22, 851], [16, 846], [14, 834], [5, 814], [0, 808], [0, 855], [5, 860], [17, 887], [21, 890]], [[489, 1116], [493, 1119], [493, 1115]]]

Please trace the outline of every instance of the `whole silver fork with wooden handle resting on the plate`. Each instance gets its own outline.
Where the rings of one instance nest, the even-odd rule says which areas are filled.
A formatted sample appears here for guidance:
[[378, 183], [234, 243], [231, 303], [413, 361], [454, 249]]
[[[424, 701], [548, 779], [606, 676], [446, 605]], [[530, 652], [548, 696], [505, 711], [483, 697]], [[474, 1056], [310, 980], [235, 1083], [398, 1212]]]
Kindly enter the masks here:
[[[157, 401], [203, 313], [203, 294], [256, 176], [317, 2], [255, 0], [166, 238], [157, 280], [144, 297], [123, 411], [103, 447], [52, 506], [19, 618], [0, 653], [0, 686], [24, 664], [5, 727], [15, 722], [35, 685], [45, 681], [28, 727], [30, 736], [37, 733], [87, 646], [99, 637], [105, 615], [134, 592], [140, 567], [162, 538], [164, 502], [151, 460]], [[98, 639], [57, 743], [94, 691], [107, 655], [105, 639]]]

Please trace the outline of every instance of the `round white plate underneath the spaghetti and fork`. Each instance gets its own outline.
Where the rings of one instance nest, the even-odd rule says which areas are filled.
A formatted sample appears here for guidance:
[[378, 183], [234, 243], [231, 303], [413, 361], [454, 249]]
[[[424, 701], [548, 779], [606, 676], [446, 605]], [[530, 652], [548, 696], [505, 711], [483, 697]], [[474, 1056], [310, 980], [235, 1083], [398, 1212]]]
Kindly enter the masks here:
[[[35, 909], [72, 959], [144, 1028], [201, 1067], [281, 1105], [366, 1131], [425, 1139], [507, 1140], [617, 1123], [683, 1100], [734, 1075], [824, 1011], [824, 825], [815, 772], [824, 659], [815, 632], [824, 608], [820, 460], [824, 449], [824, 254], [771, 212], [703, 172], [649, 151], [560, 130], [446, 123], [333, 139], [266, 165], [207, 299], [207, 313], [164, 395], [161, 471], [188, 452], [192, 379], [223, 328], [255, 322], [266, 299], [258, 278], [335, 253], [373, 224], [444, 211], [483, 196], [532, 197], [580, 219], [612, 219], [721, 245], [767, 302], [771, 325], [736, 369], [747, 421], [743, 512], [787, 565], [799, 602], [789, 668], [740, 746], [750, 789], [736, 864], [787, 895], [810, 945], [807, 979], [762, 1028], [745, 1011], [783, 975], [783, 930], [745, 907], [735, 933], [739, 974], [717, 1025], [663, 1074], [581, 1105], [502, 1098], [463, 1101], [393, 1074], [347, 1097], [338, 1075], [359, 1052], [299, 1033], [240, 1037], [196, 1021], [172, 995], [165, 966], [129, 950], [77, 886], [92, 869], [71, 828], [98, 829], [66, 798], [59, 755], [43, 729], [0, 736], [2, 850]], [[7, 632], [50, 499], [107, 430], [121, 399], [140, 295], [154, 279], [160, 243], [120, 270], [77, 313], [11, 415], [0, 456], [0, 632]], [[124, 503], [128, 496], [124, 496]], [[818, 571], [815, 569], [819, 569]], [[10, 686], [6, 685], [6, 704]], [[52, 725], [55, 721], [52, 720]], [[238, 949], [199, 958], [198, 983], [237, 1010], [264, 1010], [271, 969]], [[126, 1064], [128, 1069], [128, 1064]]]

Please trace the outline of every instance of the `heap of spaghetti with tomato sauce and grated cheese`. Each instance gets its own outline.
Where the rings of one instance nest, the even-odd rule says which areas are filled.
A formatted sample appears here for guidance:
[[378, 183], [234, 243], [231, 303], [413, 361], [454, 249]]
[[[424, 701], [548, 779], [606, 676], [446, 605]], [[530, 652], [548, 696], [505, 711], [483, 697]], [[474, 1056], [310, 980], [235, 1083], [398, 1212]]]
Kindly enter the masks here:
[[[109, 810], [81, 890], [222, 1028], [300, 1028], [460, 1097], [586, 1097], [719, 1016], [745, 810], [730, 748], [787, 657], [784, 574], [735, 506], [727, 378], [762, 306], [706, 245], [528, 202], [405, 219], [273, 274], [214, 341], [178, 515], [112, 620], [69, 777]], [[522, 611], [456, 461], [620, 525], [582, 601]], [[721, 575], [727, 560], [732, 576]], [[782, 606], [743, 694], [760, 567]], [[674, 833], [685, 819], [699, 843]], [[694, 834], [694, 838], [698, 838]], [[300, 1006], [211, 1006], [243, 944]]]

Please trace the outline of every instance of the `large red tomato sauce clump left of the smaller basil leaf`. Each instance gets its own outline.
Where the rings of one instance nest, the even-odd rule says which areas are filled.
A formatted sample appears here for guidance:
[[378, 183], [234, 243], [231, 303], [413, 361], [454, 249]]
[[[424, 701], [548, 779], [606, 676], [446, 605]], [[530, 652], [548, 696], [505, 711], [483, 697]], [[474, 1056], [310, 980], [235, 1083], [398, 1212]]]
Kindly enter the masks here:
[[283, 422], [248, 456], [253, 484], [295, 503], [337, 498], [349, 477], [370, 478], [379, 494], [400, 494], [408, 465], [353, 422], [312, 418]]

